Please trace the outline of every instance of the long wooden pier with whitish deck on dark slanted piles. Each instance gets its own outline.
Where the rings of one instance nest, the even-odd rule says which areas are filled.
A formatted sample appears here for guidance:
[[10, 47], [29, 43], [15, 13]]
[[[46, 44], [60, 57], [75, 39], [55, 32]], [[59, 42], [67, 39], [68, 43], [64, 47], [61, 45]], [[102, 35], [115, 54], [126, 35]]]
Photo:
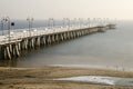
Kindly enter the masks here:
[[[71, 26], [54, 28], [32, 28], [13, 31], [12, 33], [0, 36], [0, 59], [12, 59], [21, 56], [22, 51], [30, 51], [35, 48], [49, 46], [81, 36], [104, 32], [114, 29], [115, 24], [105, 26]], [[9, 39], [10, 38], [10, 39]]]

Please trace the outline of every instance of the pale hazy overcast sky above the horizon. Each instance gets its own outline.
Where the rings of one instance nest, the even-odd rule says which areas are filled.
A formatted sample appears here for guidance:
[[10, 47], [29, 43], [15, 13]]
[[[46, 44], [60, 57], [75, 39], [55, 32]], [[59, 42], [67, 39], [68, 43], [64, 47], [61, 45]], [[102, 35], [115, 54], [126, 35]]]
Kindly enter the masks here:
[[133, 0], [0, 0], [0, 18], [133, 19]]

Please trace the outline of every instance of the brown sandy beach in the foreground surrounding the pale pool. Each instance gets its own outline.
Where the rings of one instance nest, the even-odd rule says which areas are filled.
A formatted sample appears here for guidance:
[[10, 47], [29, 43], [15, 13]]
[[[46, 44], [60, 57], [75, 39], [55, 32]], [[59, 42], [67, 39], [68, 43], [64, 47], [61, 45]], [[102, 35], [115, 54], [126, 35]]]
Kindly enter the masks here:
[[133, 72], [72, 67], [0, 68], [0, 89], [133, 89], [133, 87], [94, 85], [80, 81], [43, 80], [78, 76], [133, 78]]

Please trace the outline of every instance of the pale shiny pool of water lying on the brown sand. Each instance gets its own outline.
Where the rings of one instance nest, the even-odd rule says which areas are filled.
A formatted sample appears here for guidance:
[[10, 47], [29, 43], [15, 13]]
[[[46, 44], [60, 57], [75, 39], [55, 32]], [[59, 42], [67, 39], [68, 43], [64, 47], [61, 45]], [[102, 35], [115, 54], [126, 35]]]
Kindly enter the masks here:
[[111, 86], [133, 86], [133, 78], [119, 78], [119, 77], [80, 76], [70, 78], [55, 78], [53, 80], [81, 81]]

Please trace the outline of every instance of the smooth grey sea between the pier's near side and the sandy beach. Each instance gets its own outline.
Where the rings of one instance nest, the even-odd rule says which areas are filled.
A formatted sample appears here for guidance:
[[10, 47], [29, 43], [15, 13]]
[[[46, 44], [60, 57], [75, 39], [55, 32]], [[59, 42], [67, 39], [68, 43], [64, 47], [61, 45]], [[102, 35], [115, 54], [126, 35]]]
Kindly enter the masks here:
[[133, 21], [119, 21], [115, 30], [98, 32], [2, 60], [1, 66], [103, 67], [133, 70]]

